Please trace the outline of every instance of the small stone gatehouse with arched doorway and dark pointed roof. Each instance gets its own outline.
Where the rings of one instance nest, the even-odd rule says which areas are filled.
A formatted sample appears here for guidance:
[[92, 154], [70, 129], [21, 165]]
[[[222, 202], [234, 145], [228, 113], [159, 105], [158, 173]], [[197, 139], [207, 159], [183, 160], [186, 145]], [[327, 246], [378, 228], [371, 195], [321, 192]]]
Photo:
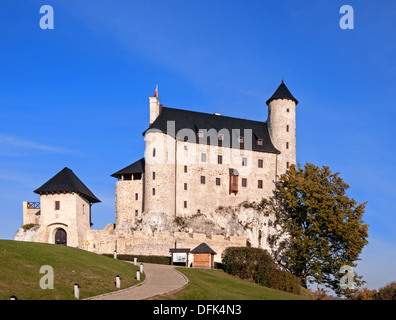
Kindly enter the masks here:
[[[91, 206], [98, 198], [69, 168], [64, 168], [34, 191], [40, 202], [23, 202], [23, 225], [30, 225], [30, 241], [84, 248], [91, 228]], [[23, 227], [21, 228], [23, 229]], [[22, 231], [22, 230], [20, 230]], [[26, 236], [26, 232], [18, 232]]]

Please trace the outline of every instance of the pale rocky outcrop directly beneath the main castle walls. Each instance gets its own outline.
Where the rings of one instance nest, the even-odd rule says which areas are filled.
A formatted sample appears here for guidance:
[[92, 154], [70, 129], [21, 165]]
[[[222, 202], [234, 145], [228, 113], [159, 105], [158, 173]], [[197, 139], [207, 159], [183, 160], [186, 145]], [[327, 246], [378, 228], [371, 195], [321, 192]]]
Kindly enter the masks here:
[[143, 231], [147, 234], [185, 232], [207, 236], [244, 236], [248, 245], [276, 254], [281, 230], [274, 222], [275, 215], [265, 212], [258, 202], [243, 202], [235, 207], [219, 207], [214, 212], [190, 217], [173, 218], [163, 212], [153, 211], [116, 229], [129, 234]]

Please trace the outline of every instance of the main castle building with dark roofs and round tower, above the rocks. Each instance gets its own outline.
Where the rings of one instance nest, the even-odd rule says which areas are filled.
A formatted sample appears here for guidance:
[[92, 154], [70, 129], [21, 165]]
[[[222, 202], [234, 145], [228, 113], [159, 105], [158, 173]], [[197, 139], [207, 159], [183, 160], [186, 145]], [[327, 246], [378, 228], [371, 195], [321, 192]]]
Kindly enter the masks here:
[[189, 217], [272, 195], [277, 176], [296, 163], [297, 103], [283, 80], [267, 101], [267, 121], [168, 108], [150, 97], [144, 157], [112, 175], [116, 226], [148, 212]]

